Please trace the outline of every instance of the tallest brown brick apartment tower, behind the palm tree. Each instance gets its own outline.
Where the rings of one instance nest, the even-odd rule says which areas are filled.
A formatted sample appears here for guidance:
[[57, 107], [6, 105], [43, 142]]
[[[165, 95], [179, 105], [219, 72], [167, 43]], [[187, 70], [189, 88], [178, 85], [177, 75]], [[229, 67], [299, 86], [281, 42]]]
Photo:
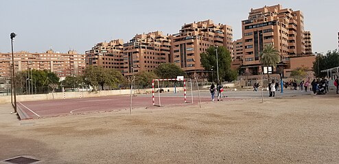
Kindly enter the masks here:
[[259, 74], [263, 70], [259, 53], [266, 44], [273, 44], [280, 52], [278, 67], [288, 67], [290, 57], [306, 54], [303, 13], [281, 5], [251, 9], [248, 19], [242, 20], [242, 44], [244, 49], [240, 58], [250, 73]]

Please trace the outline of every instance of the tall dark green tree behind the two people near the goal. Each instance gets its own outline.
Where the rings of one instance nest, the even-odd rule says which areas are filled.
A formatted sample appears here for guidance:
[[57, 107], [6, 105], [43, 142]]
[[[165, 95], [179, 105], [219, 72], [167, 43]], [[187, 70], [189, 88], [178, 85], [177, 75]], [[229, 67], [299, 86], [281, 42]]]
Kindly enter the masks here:
[[[219, 76], [223, 80], [232, 79], [229, 76], [231, 68], [231, 53], [224, 46], [210, 46], [206, 52], [200, 54], [200, 61], [204, 70], [217, 70], [217, 55], [215, 50], [218, 51], [218, 67], [219, 67]], [[218, 72], [217, 72], [218, 74]], [[215, 74], [216, 75], [216, 74]]]

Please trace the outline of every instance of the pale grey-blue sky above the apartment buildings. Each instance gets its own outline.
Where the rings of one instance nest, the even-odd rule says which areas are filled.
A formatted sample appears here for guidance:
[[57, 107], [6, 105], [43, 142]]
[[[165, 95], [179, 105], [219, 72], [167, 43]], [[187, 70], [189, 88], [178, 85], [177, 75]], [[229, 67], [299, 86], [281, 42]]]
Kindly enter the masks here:
[[150, 31], [174, 34], [207, 19], [231, 25], [237, 40], [251, 8], [277, 4], [303, 12], [314, 52], [338, 49], [338, 0], [0, 0], [0, 53], [11, 51], [12, 32], [14, 51], [84, 53], [98, 42], [127, 42]]

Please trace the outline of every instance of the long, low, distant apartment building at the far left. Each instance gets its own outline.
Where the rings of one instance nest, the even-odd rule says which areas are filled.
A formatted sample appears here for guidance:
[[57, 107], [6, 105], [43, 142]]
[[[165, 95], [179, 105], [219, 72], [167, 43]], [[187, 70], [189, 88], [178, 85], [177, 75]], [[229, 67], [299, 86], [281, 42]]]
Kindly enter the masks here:
[[[50, 70], [58, 77], [82, 74], [85, 68], [85, 57], [76, 51], [58, 53], [52, 50], [46, 53], [29, 53], [21, 51], [14, 53], [14, 71], [28, 69]], [[12, 53], [0, 53], [0, 77], [11, 76]]]

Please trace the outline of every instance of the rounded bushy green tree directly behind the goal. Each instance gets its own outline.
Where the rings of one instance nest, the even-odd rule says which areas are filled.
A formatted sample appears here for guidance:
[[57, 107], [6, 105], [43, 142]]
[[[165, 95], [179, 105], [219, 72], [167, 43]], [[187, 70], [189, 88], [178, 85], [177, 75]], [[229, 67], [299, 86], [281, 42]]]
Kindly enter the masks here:
[[154, 73], [161, 79], [172, 79], [177, 76], [185, 75], [185, 71], [183, 69], [172, 63], [160, 64], [158, 68], [154, 70]]

